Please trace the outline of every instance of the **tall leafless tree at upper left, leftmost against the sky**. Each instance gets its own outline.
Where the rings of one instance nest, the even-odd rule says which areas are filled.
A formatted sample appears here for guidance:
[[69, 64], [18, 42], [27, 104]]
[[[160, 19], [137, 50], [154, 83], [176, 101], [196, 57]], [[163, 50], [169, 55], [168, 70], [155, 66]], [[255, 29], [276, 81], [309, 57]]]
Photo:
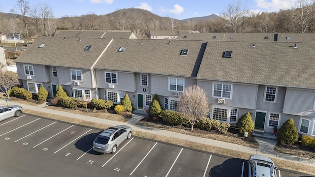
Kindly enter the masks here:
[[29, 36], [29, 31], [28, 31], [29, 22], [28, 22], [28, 17], [27, 17], [29, 11], [30, 11], [30, 6], [29, 6], [29, 1], [27, 0], [18, 0], [14, 8], [10, 10], [10, 12], [18, 14], [17, 17], [20, 20], [22, 20], [27, 36]]

